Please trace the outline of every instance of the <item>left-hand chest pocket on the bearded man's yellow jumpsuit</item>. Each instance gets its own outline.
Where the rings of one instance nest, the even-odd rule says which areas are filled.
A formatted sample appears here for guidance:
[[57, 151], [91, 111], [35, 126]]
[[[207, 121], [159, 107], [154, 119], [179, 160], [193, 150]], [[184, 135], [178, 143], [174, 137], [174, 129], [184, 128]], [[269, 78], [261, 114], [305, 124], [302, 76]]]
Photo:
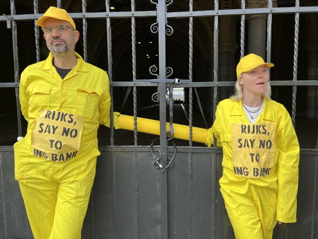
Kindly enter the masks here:
[[29, 116], [38, 116], [40, 110], [49, 109], [50, 105], [50, 91], [51, 86], [29, 86], [27, 92], [29, 93]]

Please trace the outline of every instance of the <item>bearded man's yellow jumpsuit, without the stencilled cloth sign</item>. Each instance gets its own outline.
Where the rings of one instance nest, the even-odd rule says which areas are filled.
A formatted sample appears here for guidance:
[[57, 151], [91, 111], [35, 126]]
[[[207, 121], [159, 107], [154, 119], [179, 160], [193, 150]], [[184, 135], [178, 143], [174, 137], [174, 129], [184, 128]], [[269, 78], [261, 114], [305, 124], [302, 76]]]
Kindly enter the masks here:
[[[84, 62], [77, 53], [76, 66], [62, 79], [52, 65], [53, 57], [50, 53], [21, 74], [20, 104], [28, 128], [14, 144], [15, 178], [35, 239], [79, 239], [100, 155], [97, 129], [99, 124], [110, 124], [109, 80], [104, 70]], [[68, 158], [51, 157], [31, 148], [40, 110], [84, 117], [78, 152]], [[45, 134], [52, 134], [50, 127], [42, 128]]]

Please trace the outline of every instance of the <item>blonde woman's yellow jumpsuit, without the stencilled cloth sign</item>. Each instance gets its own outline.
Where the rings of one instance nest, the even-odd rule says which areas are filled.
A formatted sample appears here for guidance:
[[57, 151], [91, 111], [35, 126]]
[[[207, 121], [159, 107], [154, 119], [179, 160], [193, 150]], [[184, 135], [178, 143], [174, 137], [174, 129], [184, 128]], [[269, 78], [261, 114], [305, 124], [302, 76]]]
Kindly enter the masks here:
[[207, 139], [207, 145], [211, 146], [214, 134], [217, 146], [223, 147], [223, 176], [219, 183], [225, 207], [236, 238], [270, 239], [277, 221], [296, 222], [299, 164], [297, 136], [285, 107], [273, 100], [264, 99], [263, 111], [255, 123], [274, 123], [273, 167], [265, 177], [249, 178], [244, 173], [238, 177], [234, 175], [238, 168], [233, 167], [235, 142], [232, 142], [233, 134], [237, 132], [232, 133], [232, 123], [244, 126], [250, 124], [242, 101], [225, 99], [217, 106], [216, 119], [209, 129]]

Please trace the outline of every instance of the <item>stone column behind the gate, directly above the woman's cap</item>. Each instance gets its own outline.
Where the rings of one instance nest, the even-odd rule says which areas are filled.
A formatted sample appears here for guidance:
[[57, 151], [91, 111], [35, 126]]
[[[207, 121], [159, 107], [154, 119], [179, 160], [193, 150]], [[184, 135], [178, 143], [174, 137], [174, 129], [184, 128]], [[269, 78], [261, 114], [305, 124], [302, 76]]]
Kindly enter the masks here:
[[[246, 8], [267, 8], [267, 0], [247, 0]], [[273, 7], [277, 7], [273, 0]], [[254, 53], [266, 59], [267, 14], [245, 15], [248, 21], [248, 53]]]

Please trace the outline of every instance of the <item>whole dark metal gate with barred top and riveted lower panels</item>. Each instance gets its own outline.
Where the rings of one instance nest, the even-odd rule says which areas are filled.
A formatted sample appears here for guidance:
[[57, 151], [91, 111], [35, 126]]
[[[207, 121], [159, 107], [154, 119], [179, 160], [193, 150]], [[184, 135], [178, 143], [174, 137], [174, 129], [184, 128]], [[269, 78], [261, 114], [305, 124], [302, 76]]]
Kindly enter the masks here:
[[[101, 147], [102, 155], [98, 161], [98, 168], [90, 205], [84, 221], [82, 238], [233, 238], [231, 225], [227, 219], [222, 197], [218, 191], [218, 178], [221, 174], [222, 151], [219, 148], [201, 148], [192, 146], [192, 88], [213, 87], [213, 112], [217, 105], [218, 87], [233, 86], [234, 82], [218, 81], [218, 19], [219, 16], [241, 15], [241, 56], [244, 54], [244, 31], [245, 15], [267, 14], [267, 62], [271, 58], [271, 25], [272, 14], [294, 13], [295, 14], [295, 41], [294, 41], [294, 71], [292, 81], [272, 81], [272, 86], [293, 86], [292, 121], [295, 123], [296, 92], [299, 85], [318, 85], [318, 81], [297, 80], [298, 58], [298, 33], [299, 15], [301, 13], [318, 13], [316, 7], [300, 7], [299, 0], [295, 1], [295, 7], [273, 8], [272, 0], [268, 1], [267, 8], [245, 9], [245, 1], [241, 2], [241, 9], [219, 10], [219, 1], [215, 0], [215, 9], [211, 11], [193, 11], [193, 0], [189, 1], [189, 11], [167, 12], [173, 0], [149, 0], [156, 5], [156, 11], [135, 11], [135, 1], [131, 0], [131, 11], [110, 12], [109, 0], [106, 0], [106, 12], [86, 12], [86, 1], [82, 1], [82, 12], [71, 13], [72, 18], [83, 20], [84, 60], [87, 60], [87, 18], [105, 18], [107, 27], [107, 50], [108, 50], [108, 75], [110, 79], [110, 91], [113, 87], [133, 87], [134, 109], [134, 146], [114, 146], [114, 129], [111, 127], [111, 145]], [[14, 54], [14, 83], [0, 83], [0, 87], [14, 87], [16, 91], [18, 136], [22, 136], [21, 114], [18, 99], [19, 67], [17, 52], [17, 24], [16, 21], [34, 20], [41, 16], [38, 14], [38, 2], [34, 1], [34, 14], [16, 15], [14, 0], [10, 0], [11, 14], [0, 16], [0, 21], [5, 21], [7, 27], [12, 29], [12, 45]], [[57, 0], [57, 6], [61, 7], [61, 1]], [[136, 31], [135, 18], [156, 17], [156, 22], [151, 26], [152, 33], [158, 33], [159, 41], [159, 67], [158, 74], [153, 74], [153, 68], [149, 73], [157, 78], [166, 78], [169, 67], [166, 67], [166, 36], [169, 36], [173, 28], [168, 25], [169, 18], [189, 18], [189, 80], [190, 83], [180, 83], [178, 87], [189, 87], [189, 147], [177, 147], [176, 161], [173, 167], [165, 173], [161, 173], [153, 167], [149, 147], [137, 144], [137, 100], [136, 88], [156, 86], [159, 92], [160, 102], [160, 146], [154, 147], [156, 156], [163, 166], [166, 165], [167, 155], [171, 154], [172, 148], [166, 141], [166, 83], [138, 82], [136, 80]], [[192, 58], [193, 58], [193, 18], [214, 18], [214, 78], [211, 82], [192, 82]], [[112, 18], [131, 18], [132, 33], [132, 63], [133, 76], [131, 82], [112, 81]], [[37, 61], [39, 61], [39, 28], [35, 25], [35, 39]], [[111, 99], [113, 103], [113, 99]], [[113, 105], [113, 104], [112, 104]], [[111, 108], [113, 112], [113, 106]], [[113, 118], [111, 119], [113, 125]], [[317, 143], [318, 144], [318, 143]], [[134, 152], [134, 153], [132, 153]], [[301, 149], [300, 178], [303, 179], [299, 195], [308, 194], [309, 197], [299, 196], [300, 202], [298, 217], [299, 223], [293, 226], [284, 225], [275, 228], [274, 238], [318, 238], [318, 172], [317, 172], [317, 149]], [[31, 230], [26, 219], [23, 202], [17, 183], [13, 175], [13, 148], [0, 147], [1, 166], [1, 205], [0, 205], [0, 238], [19, 237], [31, 238]], [[150, 164], [149, 164], [150, 162]], [[198, 162], [201, 166], [198, 167]], [[150, 167], [150, 166], [151, 167]], [[183, 171], [178, 165], [187, 165]], [[128, 170], [126, 170], [128, 168]], [[183, 167], [182, 167], [183, 168]], [[204, 171], [205, 169], [205, 171]], [[306, 170], [305, 170], [306, 169]], [[309, 169], [309, 171], [308, 171]], [[171, 172], [171, 173], [169, 173]], [[107, 176], [105, 176], [107, 175]], [[306, 176], [305, 176], [306, 175]], [[177, 177], [179, 176], [179, 177]], [[149, 179], [154, 181], [149, 183]], [[175, 187], [177, 181], [186, 184], [182, 191]], [[211, 185], [200, 185], [208, 184]], [[150, 186], [149, 186], [150, 185]], [[147, 188], [141, 189], [141, 188]], [[176, 193], [173, 193], [175, 190]], [[204, 193], [207, 190], [207, 194]], [[150, 193], [149, 193], [150, 192]], [[179, 200], [176, 200], [180, 196]], [[171, 198], [173, 195], [174, 199]], [[209, 195], [207, 197], [207, 195]], [[170, 197], [169, 197], [170, 196]], [[184, 199], [186, 198], [186, 199]], [[147, 200], [149, 199], [149, 200]], [[200, 207], [204, 205], [205, 212]], [[146, 206], [145, 206], [146, 205]], [[101, 212], [105, 210], [105, 213]], [[151, 211], [151, 210], [152, 211]], [[174, 217], [171, 217], [175, 210]], [[150, 211], [149, 211], [150, 210]], [[176, 218], [176, 211], [180, 218]], [[183, 216], [185, 212], [185, 216]], [[203, 217], [208, 218], [206, 221]], [[154, 217], [149, 217], [154, 216]], [[22, 215], [22, 217], [21, 217]], [[302, 220], [305, 220], [302, 221]], [[200, 221], [201, 220], [201, 221]], [[172, 221], [172, 222], [171, 222]], [[17, 225], [17, 226], [10, 226]], [[24, 226], [23, 226], [24, 225]], [[22, 228], [22, 229], [21, 229]], [[305, 231], [304, 231], [305, 230]], [[177, 233], [176, 233], [177, 232]]]

